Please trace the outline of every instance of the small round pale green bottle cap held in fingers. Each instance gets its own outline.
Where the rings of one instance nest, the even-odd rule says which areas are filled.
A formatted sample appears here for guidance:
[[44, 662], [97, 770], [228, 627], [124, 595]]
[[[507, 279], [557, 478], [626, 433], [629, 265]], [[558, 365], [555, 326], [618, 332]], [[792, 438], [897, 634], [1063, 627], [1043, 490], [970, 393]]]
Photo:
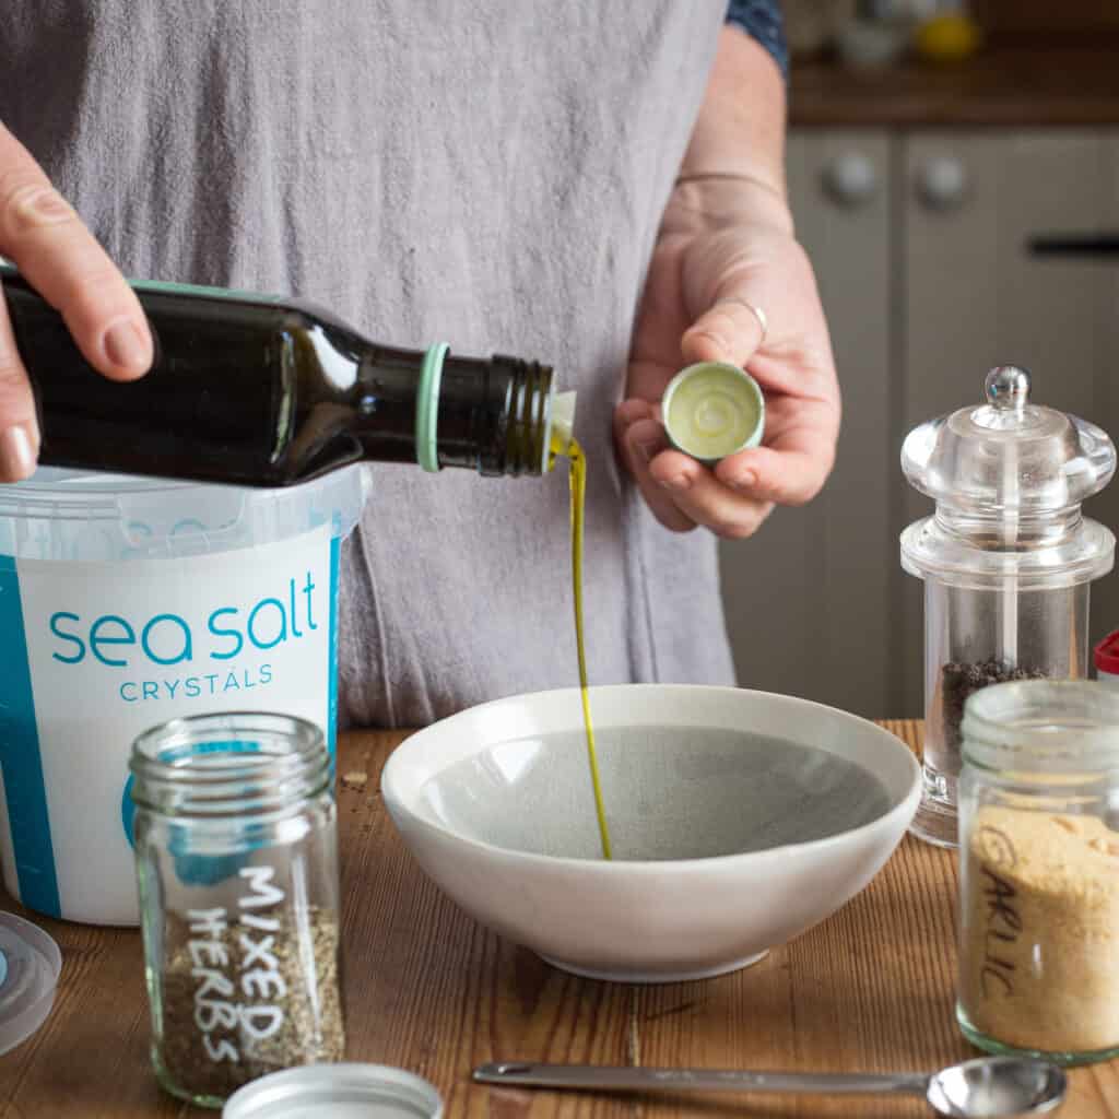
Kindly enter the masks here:
[[700, 361], [668, 383], [660, 402], [673, 446], [700, 462], [756, 446], [765, 430], [765, 397], [736, 365]]

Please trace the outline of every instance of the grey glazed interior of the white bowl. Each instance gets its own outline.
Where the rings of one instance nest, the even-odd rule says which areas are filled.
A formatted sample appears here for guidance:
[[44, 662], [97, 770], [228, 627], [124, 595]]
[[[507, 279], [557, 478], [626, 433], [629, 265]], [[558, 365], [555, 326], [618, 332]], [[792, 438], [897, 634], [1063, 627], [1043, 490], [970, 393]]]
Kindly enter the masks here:
[[[890, 807], [869, 770], [787, 739], [696, 726], [611, 726], [596, 737], [618, 859], [711, 858], [827, 839]], [[482, 749], [425, 782], [417, 810], [508, 850], [601, 854], [582, 730]]]

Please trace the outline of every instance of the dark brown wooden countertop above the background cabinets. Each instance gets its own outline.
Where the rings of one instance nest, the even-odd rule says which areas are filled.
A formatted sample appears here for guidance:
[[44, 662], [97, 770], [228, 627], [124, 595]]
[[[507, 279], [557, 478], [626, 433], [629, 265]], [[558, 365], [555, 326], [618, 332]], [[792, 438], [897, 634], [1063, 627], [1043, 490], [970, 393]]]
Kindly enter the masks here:
[[1119, 124], [1119, 39], [1106, 46], [1005, 48], [958, 65], [883, 70], [794, 64], [790, 120], [801, 128]]

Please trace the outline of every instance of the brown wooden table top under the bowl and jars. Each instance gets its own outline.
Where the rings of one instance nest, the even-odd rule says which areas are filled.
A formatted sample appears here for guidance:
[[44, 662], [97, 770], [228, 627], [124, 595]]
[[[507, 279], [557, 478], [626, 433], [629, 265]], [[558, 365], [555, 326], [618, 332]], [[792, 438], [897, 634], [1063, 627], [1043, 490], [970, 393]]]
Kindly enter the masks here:
[[[916, 723], [885, 724], [918, 747]], [[377, 792], [401, 734], [345, 735], [339, 792], [349, 1059], [432, 1080], [449, 1116], [923, 1116], [920, 1101], [603, 1097], [474, 1087], [485, 1061], [797, 1070], [933, 1069], [974, 1052], [952, 1016], [956, 858], [906, 838], [830, 920], [736, 975], [631, 987], [576, 979], [477, 925], [408, 858]], [[16, 909], [0, 896], [0, 908]], [[44, 921], [58, 999], [0, 1057], [0, 1119], [204, 1116], [160, 1093], [134, 931]], [[1119, 1062], [1072, 1073], [1068, 1119], [1119, 1119]]]

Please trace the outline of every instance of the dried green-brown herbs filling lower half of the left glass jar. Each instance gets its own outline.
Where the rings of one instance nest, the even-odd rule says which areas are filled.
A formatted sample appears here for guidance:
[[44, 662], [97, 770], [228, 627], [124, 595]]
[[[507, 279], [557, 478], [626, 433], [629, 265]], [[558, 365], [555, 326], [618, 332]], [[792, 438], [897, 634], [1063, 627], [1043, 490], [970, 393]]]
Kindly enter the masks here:
[[291, 905], [269, 866], [239, 876], [232, 911], [168, 915], [158, 1059], [198, 1096], [345, 1051], [333, 914]]

